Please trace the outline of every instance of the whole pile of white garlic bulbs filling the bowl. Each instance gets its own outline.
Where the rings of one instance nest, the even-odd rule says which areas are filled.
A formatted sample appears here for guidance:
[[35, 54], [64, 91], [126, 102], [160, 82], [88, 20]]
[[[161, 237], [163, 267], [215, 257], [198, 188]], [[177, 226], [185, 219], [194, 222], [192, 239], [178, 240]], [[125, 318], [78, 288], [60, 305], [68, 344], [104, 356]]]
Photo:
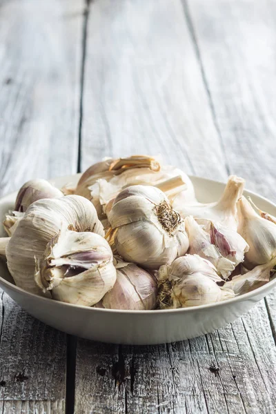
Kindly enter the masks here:
[[76, 188], [19, 190], [0, 255], [17, 286], [108, 309], [184, 308], [266, 284], [276, 272], [276, 218], [231, 175], [201, 204], [188, 176], [148, 156], [105, 159]]

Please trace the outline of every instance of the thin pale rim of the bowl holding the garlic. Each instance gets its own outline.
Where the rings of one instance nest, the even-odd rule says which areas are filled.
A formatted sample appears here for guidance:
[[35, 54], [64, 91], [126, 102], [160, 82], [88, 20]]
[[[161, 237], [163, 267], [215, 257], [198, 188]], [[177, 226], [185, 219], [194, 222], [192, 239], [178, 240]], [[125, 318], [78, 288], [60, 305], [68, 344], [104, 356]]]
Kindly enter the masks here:
[[[69, 175], [69, 176], [61, 176], [61, 177], [56, 177], [55, 179], [50, 179], [49, 181], [55, 181], [56, 179], [62, 179], [62, 178], [68, 178], [68, 177], [75, 177], [75, 176], [79, 176], [78, 174], [73, 174], [73, 175]], [[226, 184], [224, 181], [217, 181], [217, 180], [213, 180], [213, 179], [208, 179], [208, 178], [204, 178], [204, 177], [199, 177], [197, 175], [189, 175], [188, 177], [190, 177], [190, 179], [200, 179], [201, 181], [206, 181], [209, 182], [210, 184]], [[5, 199], [8, 198], [12, 195], [14, 195], [15, 192], [9, 193], [7, 195], [4, 195], [3, 197], [0, 198], [1, 199]], [[266, 201], [268, 204], [271, 204], [273, 207], [276, 208], [276, 204], [273, 203], [273, 201], [270, 201], [269, 199], [267, 199], [266, 197], [263, 197], [262, 195], [259, 195], [257, 193], [255, 193], [254, 191], [251, 190], [245, 190], [245, 193], [248, 193], [248, 195], [253, 195], [255, 197], [258, 197], [259, 199], [262, 199], [264, 201]], [[81, 308], [83, 310], [86, 310], [88, 312], [103, 312], [103, 313], [116, 313], [116, 314], [123, 314], [123, 315], [129, 315], [129, 314], [133, 314], [133, 315], [164, 315], [166, 313], [169, 314], [173, 314], [173, 313], [189, 313], [189, 312], [193, 312], [193, 311], [204, 311], [205, 309], [208, 308], [219, 308], [220, 306], [224, 306], [224, 304], [234, 304], [237, 302], [242, 302], [244, 300], [248, 300], [251, 299], [252, 297], [255, 297], [259, 294], [262, 294], [264, 292], [266, 292], [266, 290], [272, 290], [273, 288], [275, 288], [276, 286], [276, 277], [274, 277], [272, 280], [270, 280], [268, 283], [264, 284], [264, 286], [260, 286], [259, 288], [252, 290], [251, 292], [248, 293], [244, 293], [243, 295], [237, 295], [235, 297], [220, 301], [220, 302], [215, 302], [213, 304], [205, 304], [205, 305], [198, 305], [198, 306], [190, 306], [188, 308], [173, 308], [173, 309], [151, 309], [149, 311], [135, 311], [135, 310], [127, 310], [127, 309], [107, 309], [107, 308], [94, 308], [92, 306], [83, 306], [83, 305], [77, 305], [77, 304], [69, 304], [66, 302], [59, 302], [55, 299], [51, 299], [48, 297], [43, 297], [43, 296], [39, 296], [39, 295], [35, 295], [34, 293], [28, 292], [27, 290], [24, 290], [22, 288], [19, 288], [19, 286], [16, 286], [15, 284], [12, 284], [10, 282], [8, 282], [6, 279], [3, 279], [3, 277], [1, 277], [0, 275], [0, 282], [2, 285], [6, 286], [7, 288], [14, 290], [14, 292], [16, 293], [21, 293], [23, 295], [27, 295], [27, 297], [34, 297], [34, 299], [38, 299], [41, 300], [44, 303], [49, 303], [52, 304], [54, 306], [58, 306], [58, 307], [72, 307], [72, 308]]]

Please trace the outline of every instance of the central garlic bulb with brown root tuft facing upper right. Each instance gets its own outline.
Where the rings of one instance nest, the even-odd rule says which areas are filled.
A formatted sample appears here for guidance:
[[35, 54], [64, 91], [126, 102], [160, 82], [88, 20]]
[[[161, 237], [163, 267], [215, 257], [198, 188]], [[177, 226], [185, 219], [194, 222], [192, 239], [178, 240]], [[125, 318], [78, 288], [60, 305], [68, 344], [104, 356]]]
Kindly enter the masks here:
[[159, 188], [130, 186], [122, 190], [108, 221], [115, 248], [127, 262], [156, 269], [188, 250], [184, 221]]

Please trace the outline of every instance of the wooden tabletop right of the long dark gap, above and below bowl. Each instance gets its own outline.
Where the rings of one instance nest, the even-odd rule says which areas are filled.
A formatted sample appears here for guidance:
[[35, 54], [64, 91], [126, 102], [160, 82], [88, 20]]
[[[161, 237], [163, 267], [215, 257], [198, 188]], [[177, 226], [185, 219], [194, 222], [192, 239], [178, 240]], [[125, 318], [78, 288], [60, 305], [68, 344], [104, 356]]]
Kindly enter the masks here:
[[[106, 155], [161, 152], [189, 173], [225, 180], [235, 172], [273, 199], [274, 7], [228, 0], [92, 2], [82, 169]], [[258, 50], [264, 46], [264, 63], [253, 39]], [[216, 333], [176, 344], [79, 339], [75, 411], [275, 413], [274, 303], [270, 295]]]

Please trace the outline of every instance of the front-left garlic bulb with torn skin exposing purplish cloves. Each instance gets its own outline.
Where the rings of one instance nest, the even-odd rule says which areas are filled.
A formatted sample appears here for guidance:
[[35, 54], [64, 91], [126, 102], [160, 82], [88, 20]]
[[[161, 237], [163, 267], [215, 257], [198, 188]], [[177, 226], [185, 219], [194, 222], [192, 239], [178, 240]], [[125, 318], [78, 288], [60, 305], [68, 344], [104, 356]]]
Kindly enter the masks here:
[[37, 261], [34, 279], [52, 299], [92, 306], [115, 284], [112, 260], [110, 246], [100, 235], [61, 230]]

